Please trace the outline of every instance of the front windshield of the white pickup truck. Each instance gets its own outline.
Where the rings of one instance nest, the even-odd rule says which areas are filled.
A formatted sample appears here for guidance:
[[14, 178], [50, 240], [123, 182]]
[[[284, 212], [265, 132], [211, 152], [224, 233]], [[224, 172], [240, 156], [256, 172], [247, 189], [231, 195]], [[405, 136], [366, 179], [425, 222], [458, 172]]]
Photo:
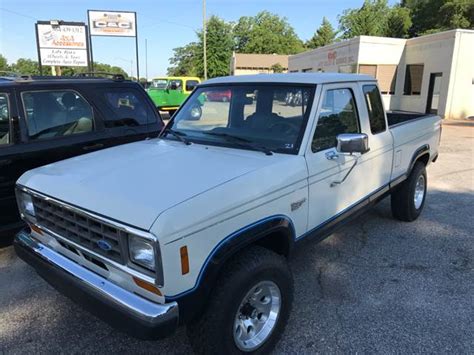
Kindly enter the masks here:
[[[169, 127], [191, 142], [297, 154], [314, 85], [234, 84], [196, 89]], [[168, 136], [174, 139], [172, 136]]]

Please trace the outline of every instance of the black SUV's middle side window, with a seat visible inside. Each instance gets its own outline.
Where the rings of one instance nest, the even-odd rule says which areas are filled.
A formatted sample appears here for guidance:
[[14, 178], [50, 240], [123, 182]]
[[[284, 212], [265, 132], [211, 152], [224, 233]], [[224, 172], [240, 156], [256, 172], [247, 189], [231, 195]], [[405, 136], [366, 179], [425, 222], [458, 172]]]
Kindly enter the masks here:
[[94, 130], [92, 107], [73, 90], [21, 94], [30, 139], [47, 139]]

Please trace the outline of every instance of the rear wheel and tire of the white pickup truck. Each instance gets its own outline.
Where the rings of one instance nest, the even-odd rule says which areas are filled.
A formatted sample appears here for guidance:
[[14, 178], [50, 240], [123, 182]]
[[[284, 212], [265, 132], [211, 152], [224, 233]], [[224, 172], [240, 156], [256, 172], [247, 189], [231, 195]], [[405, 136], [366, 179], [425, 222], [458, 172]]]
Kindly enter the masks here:
[[418, 162], [413, 167], [408, 179], [392, 192], [393, 217], [404, 222], [416, 220], [425, 205], [427, 185], [426, 167], [423, 163]]

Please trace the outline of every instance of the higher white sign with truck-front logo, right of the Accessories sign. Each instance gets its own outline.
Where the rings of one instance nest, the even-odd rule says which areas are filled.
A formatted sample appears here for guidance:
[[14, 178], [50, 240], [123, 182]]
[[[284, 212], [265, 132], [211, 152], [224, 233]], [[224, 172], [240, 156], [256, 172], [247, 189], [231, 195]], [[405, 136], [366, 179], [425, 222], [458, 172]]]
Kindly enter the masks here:
[[91, 36], [137, 36], [135, 12], [87, 11]]

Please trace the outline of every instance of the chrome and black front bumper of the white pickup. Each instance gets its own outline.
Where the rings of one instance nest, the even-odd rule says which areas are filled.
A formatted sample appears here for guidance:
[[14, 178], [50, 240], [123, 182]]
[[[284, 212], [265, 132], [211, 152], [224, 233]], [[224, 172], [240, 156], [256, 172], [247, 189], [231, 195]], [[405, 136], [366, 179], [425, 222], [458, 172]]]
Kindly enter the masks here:
[[157, 304], [99, 276], [21, 231], [14, 240], [17, 255], [37, 273], [92, 314], [114, 328], [141, 339], [158, 339], [178, 326], [176, 302]]

